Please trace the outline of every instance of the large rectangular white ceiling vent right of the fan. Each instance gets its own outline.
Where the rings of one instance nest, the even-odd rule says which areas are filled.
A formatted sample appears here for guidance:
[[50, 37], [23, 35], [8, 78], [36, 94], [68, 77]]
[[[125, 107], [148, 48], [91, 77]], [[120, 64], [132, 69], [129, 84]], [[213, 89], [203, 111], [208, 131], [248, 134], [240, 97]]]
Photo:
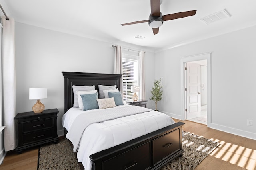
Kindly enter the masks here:
[[228, 13], [228, 11], [226, 9], [216, 12], [214, 14], [211, 14], [209, 16], [206, 16], [204, 18], [202, 18], [201, 20], [206, 23], [206, 24], [210, 24], [219, 20], [222, 20], [224, 18], [229, 18], [231, 17], [231, 15]]

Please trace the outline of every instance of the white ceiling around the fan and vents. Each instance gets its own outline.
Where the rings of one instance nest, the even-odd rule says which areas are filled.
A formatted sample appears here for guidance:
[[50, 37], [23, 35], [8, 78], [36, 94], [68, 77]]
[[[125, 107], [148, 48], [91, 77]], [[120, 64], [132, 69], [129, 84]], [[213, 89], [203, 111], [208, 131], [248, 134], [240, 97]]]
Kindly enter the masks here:
[[[1, 0], [15, 21], [150, 51], [214, 37], [256, 25], [256, 0], [161, 0], [163, 15], [197, 10], [195, 16], [164, 21], [153, 35], [148, 23], [150, 0]], [[2, 3], [1, 3], [2, 4]], [[200, 19], [226, 9], [230, 18], [206, 25]], [[140, 35], [144, 39], [136, 39]]]

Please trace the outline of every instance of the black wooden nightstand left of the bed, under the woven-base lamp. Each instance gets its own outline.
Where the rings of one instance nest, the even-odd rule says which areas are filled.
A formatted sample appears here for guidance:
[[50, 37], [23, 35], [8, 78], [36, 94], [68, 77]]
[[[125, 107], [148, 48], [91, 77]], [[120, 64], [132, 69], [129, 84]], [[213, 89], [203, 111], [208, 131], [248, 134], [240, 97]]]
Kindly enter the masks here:
[[15, 119], [16, 149], [20, 154], [24, 149], [48, 142], [58, 143], [57, 114], [58, 109], [18, 113]]

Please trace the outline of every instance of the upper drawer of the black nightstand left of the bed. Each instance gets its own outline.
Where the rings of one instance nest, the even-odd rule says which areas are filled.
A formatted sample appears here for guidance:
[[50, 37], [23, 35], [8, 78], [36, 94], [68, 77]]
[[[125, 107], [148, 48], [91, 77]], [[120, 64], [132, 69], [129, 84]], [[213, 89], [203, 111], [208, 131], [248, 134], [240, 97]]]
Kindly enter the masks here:
[[53, 127], [54, 119], [43, 119], [23, 123], [23, 133]]

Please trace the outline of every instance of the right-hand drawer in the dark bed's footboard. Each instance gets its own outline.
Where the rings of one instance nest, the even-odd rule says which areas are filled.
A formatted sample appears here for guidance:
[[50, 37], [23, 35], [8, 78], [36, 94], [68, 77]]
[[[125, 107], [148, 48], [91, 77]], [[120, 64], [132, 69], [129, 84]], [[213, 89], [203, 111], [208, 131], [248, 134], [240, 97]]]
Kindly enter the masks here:
[[180, 129], [153, 140], [153, 164], [164, 159], [180, 148]]

